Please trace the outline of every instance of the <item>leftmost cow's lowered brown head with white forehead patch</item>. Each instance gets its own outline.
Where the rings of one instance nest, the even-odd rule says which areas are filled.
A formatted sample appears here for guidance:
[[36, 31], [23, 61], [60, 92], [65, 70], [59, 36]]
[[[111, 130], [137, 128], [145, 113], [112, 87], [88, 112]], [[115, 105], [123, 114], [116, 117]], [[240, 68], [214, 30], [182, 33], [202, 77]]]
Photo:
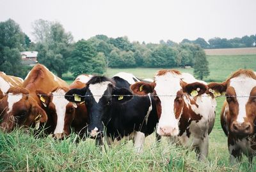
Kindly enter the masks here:
[[45, 111], [38, 105], [29, 91], [22, 87], [12, 87], [1, 99], [0, 111], [2, 122], [0, 128], [12, 131], [15, 125], [39, 127], [40, 122], [47, 121]]

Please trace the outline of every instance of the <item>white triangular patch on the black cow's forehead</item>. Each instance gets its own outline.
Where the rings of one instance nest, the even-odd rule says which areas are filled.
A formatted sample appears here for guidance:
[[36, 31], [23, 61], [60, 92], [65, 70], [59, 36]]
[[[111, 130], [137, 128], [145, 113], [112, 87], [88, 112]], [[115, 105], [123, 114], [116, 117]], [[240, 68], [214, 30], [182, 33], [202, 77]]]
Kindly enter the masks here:
[[92, 96], [97, 103], [99, 103], [100, 98], [103, 96], [104, 92], [108, 89], [108, 85], [111, 82], [100, 82], [89, 85], [89, 90], [92, 92]]

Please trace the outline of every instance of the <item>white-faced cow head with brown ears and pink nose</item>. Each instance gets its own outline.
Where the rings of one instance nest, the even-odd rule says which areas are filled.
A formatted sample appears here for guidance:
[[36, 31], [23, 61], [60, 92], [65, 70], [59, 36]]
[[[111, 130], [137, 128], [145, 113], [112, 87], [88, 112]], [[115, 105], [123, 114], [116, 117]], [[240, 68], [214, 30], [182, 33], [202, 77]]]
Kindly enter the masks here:
[[[182, 81], [178, 71], [159, 71], [152, 83], [138, 82], [131, 85], [134, 94], [154, 93], [157, 96], [157, 114], [159, 124], [157, 134], [161, 136], [177, 136], [179, 134], [179, 120], [184, 111], [196, 97], [204, 94], [207, 85], [203, 83], [186, 83]], [[189, 97], [195, 96], [195, 98]], [[195, 102], [195, 101], [194, 101]]]

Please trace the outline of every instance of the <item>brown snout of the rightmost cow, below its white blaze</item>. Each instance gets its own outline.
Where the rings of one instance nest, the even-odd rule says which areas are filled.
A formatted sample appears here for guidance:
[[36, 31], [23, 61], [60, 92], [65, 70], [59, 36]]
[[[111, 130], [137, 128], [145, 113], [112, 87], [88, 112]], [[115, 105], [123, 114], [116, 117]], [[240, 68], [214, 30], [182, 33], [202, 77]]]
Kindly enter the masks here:
[[233, 122], [230, 128], [232, 133], [236, 133], [239, 135], [249, 135], [253, 133], [253, 127], [250, 122]]

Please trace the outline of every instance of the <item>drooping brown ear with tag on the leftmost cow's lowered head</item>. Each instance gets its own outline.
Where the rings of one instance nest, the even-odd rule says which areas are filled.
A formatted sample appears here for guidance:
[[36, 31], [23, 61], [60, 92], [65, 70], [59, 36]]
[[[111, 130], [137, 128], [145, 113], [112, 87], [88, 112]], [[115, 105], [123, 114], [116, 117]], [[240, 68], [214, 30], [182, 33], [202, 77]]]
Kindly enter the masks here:
[[36, 129], [39, 128], [40, 122], [41, 123], [47, 122], [47, 119], [48, 119], [47, 115], [45, 111], [40, 106], [38, 106], [38, 104], [36, 104], [35, 106], [32, 106], [31, 113], [33, 114], [33, 117], [35, 117], [34, 122], [36, 124], [35, 125]]

